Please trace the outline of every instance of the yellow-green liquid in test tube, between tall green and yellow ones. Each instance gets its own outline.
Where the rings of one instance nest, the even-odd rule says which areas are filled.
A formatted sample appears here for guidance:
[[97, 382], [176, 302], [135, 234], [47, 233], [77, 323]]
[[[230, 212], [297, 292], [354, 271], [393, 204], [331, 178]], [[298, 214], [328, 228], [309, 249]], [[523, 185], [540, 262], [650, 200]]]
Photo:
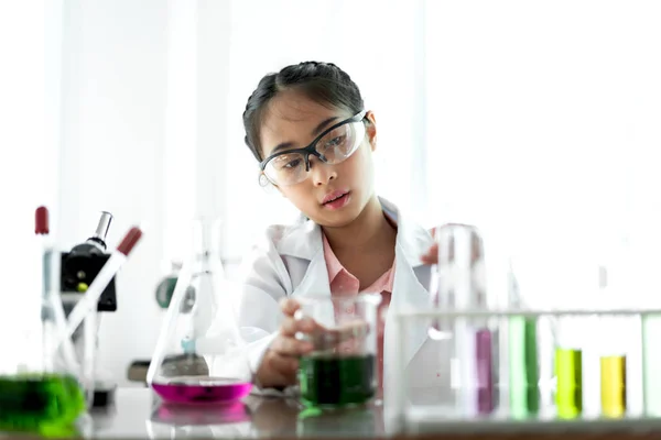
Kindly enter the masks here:
[[583, 413], [582, 351], [555, 349], [555, 405], [557, 417], [571, 419]]

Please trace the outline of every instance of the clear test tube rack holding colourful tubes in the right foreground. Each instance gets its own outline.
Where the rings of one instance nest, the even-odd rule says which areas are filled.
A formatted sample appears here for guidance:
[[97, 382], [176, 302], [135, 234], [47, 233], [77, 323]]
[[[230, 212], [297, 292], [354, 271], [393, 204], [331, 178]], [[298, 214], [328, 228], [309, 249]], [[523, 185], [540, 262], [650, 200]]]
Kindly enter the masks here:
[[[499, 377], [496, 380], [496, 393], [498, 394], [497, 405], [487, 414], [476, 411], [467, 414], [465, 409], [459, 408], [456, 402], [444, 403], [440, 405], [415, 405], [411, 400], [410, 389], [408, 389], [408, 381], [405, 380], [405, 367], [401, 356], [392, 356], [391, 362], [397, 377], [394, 391], [390, 393], [390, 399], [393, 405], [389, 410], [390, 417], [394, 424], [399, 426], [401, 431], [411, 433], [425, 432], [539, 432], [539, 433], [563, 433], [563, 432], [654, 432], [661, 435], [661, 380], [655, 381], [654, 376], [661, 377], [661, 352], [659, 359], [654, 355], [657, 352], [650, 343], [654, 342], [654, 338], [659, 340], [661, 337], [661, 309], [610, 309], [610, 310], [430, 310], [430, 309], [402, 309], [394, 314], [394, 324], [397, 336], [395, 351], [404, 352], [408, 343], [408, 334], [412, 330], [411, 326], [426, 326], [431, 322], [445, 322], [454, 326], [456, 322], [470, 321], [489, 321], [491, 328], [498, 329], [496, 355], [498, 359]], [[537, 383], [539, 393], [548, 392], [549, 398], [541, 398], [540, 408], [534, 414], [514, 414], [514, 408], [511, 402], [512, 384], [508, 383], [509, 363], [511, 361], [510, 334], [509, 324], [514, 319], [525, 319], [535, 324], [541, 320], [549, 322], [559, 322], [562, 319], [578, 319], [585, 323], [597, 322], [599, 319], [611, 318], [628, 318], [635, 330], [633, 343], [640, 346], [639, 369], [633, 371], [630, 369], [627, 361], [622, 361], [621, 369], [630, 377], [639, 380], [641, 384], [641, 396], [638, 405], [631, 405], [625, 397], [624, 408], [620, 408], [620, 414], [605, 414], [603, 408], [599, 414], [595, 411], [588, 413], [583, 410], [583, 405], [578, 402], [577, 410], [574, 414], [562, 414], [562, 397], [559, 398], [559, 377], [563, 371], [562, 366], [559, 370], [559, 352], [560, 349], [555, 342], [548, 351], [553, 353], [552, 369], [552, 389], [542, 391], [543, 384], [541, 380]], [[447, 327], [446, 327], [447, 328]], [[452, 327], [455, 328], [455, 327]], [[448, 339], [453, 339], [453, 334], [448, 333]], [[451, 342], [448, 342], [451, 343]], [[539, 343], [539, 341], [535, 341]], [[578, 356], [585, 356], [585, 352], [578, 352]], [[447, 360], [447, 362], [452, 362]], [[578, 361], [578, 369], [581, 370]], [[625, 363], [627, 362], [627, 363]], [[609, 371], [608, 365], [602, 361], [602, 367], [594, 374], [604, 376], [605, 371]], [[575, 366], [575, 365], [574, 365]], [[606, 370], [604, 370], [606, 369]], [[658, 371], [657, 371], [658, 370]], [[572, 370], [574, 375], [585, 375], [585, 372]], [[538, 375], [539, 377], [539, 375]], [[603, 378], [602, 378], [603, 381]], [[622, 393], [627, 393], [625, 383], [620, 384], [625, 387]], [[602, 383], [602, 388], [605, 386]], [[584, 399], [583, 389], [578, 389], [577, 399]], [[600, 391], [604, 393], [604, 389]], [[602, 394], [602, 404], [604, 403], [604, 394]], [[545, 400], [545, 402], [544, 402]], [[627, 405], [629, 404], [629, 405]], [[621, 406], [621, 403], [620, 403]], [[636, 409], [632, 409], [637, 407]], [[566, 411], [565, 411], [566, 413]]]

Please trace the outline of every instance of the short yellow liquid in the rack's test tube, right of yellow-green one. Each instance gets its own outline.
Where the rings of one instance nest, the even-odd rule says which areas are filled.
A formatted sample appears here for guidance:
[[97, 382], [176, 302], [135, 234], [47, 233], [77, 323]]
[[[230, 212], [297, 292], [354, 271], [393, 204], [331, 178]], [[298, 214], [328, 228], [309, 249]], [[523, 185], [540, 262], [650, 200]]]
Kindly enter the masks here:
[[627, 358], [603, 356], [602, 414], [605, 417], [624, 417], [627, 411]]

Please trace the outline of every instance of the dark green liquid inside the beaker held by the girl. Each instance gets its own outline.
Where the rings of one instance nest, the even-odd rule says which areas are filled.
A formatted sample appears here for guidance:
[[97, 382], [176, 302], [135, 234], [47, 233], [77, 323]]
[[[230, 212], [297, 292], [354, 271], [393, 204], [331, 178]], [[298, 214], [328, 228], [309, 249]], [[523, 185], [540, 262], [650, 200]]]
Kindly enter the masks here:
[[364, 404], [375, 396], [375, 356], [313, 354], [301, 358], [301, 398], [308, 406]]

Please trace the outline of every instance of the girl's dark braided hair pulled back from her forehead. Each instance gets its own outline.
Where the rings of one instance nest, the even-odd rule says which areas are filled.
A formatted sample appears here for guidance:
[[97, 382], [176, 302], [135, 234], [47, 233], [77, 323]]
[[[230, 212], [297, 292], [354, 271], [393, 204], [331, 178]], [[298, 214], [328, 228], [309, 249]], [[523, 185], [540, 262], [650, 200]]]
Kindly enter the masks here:
[[351, 114], [364, 108], [358, 86], [332, 63], [303, 62], [264, 76], [248, 98], [243, 111], [245, 141], [259, 162], [263, 160], [259, 142], [263, 110], [278, 92], [291, 89], [302, 90], [315, 102], [347, 110]]

